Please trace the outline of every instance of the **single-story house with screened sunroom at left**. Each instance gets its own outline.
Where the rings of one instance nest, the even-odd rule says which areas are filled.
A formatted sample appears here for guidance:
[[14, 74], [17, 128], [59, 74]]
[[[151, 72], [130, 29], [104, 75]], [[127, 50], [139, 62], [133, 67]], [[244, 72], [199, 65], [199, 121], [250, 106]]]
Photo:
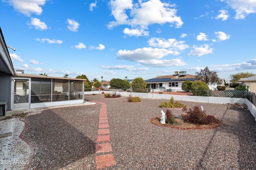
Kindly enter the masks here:
[[0, 109], [8, 111], [84, 103], [86, 79], [17, 74], [1, 27], [0, 38]]

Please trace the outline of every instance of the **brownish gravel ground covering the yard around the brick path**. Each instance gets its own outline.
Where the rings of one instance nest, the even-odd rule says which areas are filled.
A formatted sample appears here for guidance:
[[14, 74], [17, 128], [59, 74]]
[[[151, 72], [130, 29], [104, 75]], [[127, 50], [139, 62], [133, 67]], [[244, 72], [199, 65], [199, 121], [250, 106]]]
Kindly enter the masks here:
[[[127, 97], [86, 100], [107, 105], [115, 166], [106, 170], [230, 170], [256, 169], [256, 122], [250, 111], [233, 106], [182, 102], [188, 108], [202, 105], [207, 114], [223, 123], [203, 130], [179, 130], [150, 123], [161, 115], [158, 105], [166, 100]], [[30, 169], [96, 169], [95, 154], [100, 104], [63, 107], [25, 118], [24, 138], [35, 149]], [[175, 115], [182, 111], [173, 110]]]

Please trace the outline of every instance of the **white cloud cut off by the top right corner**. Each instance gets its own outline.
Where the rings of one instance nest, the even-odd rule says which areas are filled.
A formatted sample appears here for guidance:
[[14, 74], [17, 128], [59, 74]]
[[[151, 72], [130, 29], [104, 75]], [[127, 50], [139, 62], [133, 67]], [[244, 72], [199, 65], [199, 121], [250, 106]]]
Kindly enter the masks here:
[[223, 0], [236, 11], [236, 20], [244, 19], [248, 14], [256, 13], [255, 0]]

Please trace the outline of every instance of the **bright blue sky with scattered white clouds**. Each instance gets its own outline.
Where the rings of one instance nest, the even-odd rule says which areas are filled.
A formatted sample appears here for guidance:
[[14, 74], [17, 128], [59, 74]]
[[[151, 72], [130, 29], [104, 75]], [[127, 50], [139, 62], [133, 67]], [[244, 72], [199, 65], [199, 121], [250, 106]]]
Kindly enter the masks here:
[[256, 73], [256, 0], [0, 0], [0, 26], [25, 73]]

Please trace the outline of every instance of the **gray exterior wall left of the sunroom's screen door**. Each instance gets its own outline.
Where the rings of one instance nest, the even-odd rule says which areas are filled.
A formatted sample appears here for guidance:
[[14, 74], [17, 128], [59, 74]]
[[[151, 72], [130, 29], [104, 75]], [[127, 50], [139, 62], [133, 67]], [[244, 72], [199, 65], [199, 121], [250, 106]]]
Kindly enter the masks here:
[[7, 110], [11, 109], [11, 75], [0, 72], [0, 102], [8, 102]]

